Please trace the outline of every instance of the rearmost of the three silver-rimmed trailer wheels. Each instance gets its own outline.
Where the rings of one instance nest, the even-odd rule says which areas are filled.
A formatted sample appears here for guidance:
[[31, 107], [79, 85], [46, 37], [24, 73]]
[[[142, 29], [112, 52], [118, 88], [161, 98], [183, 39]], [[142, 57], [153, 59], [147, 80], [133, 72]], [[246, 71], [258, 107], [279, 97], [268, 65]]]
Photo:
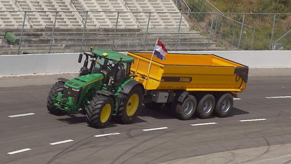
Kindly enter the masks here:
[[217, 102], [214, 109], [214, 114], [217, 117], [227, 117], [233, 106], [233, 98], [231, 94], [226, 93], [221, 97], [217, 97]]

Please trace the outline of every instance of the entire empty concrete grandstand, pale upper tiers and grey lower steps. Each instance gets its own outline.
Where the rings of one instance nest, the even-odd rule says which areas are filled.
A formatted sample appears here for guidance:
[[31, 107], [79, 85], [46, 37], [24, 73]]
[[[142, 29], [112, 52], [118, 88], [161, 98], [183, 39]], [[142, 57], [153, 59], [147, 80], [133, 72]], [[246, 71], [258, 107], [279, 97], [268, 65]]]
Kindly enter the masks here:
[[[116, 51], [152, 51], [159, 39], [168, 51], [175, 50], [180, 13], [173, 0], [0, 0], [0, 55], [16, 54], [18, 45], [3, 39], [5, 31], [13, 31], [20, 37], [24, 10], [27, 12], [20, 53], [48, 52], [53, 36], [51, 52], [80, 52], [83, 28], [87, 15], [83, 50], [93, 45], [98, 49]], [[89, 11], [89, 12], [86, 12]], [[119, 11], [118, 28], [114, 36]], [[131, 11], [131, 12], [128, 12]], [[136, 13], [134, 13], [136, 12]], [[148, 26], [145, 42], [145, 29]], [[157, 13], [159, 12], [159, 13]], [[29, 13], [29, 15], [28, 15]], [[52, 27], [55, 22], [54, 35]], [[208, 37], [189, 29], [182, 17], [177, 44], [178, 51], [206, 50]], [[145, 42], [145, 49], [143, 44]], [[221, 50], [216, 43], [209, 43], [209, 50]]]

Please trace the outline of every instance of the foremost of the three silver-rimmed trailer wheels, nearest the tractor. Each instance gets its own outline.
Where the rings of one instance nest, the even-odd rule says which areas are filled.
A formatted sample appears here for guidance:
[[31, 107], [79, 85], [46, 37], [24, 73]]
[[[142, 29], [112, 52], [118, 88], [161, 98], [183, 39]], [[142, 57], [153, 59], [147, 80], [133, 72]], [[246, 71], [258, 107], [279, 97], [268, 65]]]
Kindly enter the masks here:
[[189, 120], [195, 113], [196, 106], [196, 98], [193, 95], [187, 95], [183, 103], [176, 101], [173, 112], [178, 119]]

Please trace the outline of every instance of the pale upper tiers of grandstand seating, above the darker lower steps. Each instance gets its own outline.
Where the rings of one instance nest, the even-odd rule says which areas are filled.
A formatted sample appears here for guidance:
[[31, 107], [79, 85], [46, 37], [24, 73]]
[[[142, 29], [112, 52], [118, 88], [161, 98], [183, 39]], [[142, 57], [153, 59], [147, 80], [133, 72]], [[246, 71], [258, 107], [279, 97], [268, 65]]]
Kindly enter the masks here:
[[[0, 10], [15, 11], [1, 13], [0, 19], [4, 26], [0, 28], [21, 28], [23, 10], [43, 11], [29, 13], [29, 21], [26, 22], [25, 28], [51, 27], [55, 13], [48, 11], [54, 10], [60, 11], [57, 16], [57, 28], [82, 28], [85, 19], [84, 11], [90, 11], [87, 19], [88, 28], [115, 27], [118, 11], [120, 11], [118, 28], [147, 26], [149, 13], [126, 12], [179, 12], [172, 0], [72, 0], [72, 4], [70, 0], [16, 0], [16, 3], [15, 0], [0, 0]], [[149, 28], [178, 28], [179, 21], [180, 13], [151, 13]], [[184, 17], [181, 28], [189, 29], [189, 24]]]

